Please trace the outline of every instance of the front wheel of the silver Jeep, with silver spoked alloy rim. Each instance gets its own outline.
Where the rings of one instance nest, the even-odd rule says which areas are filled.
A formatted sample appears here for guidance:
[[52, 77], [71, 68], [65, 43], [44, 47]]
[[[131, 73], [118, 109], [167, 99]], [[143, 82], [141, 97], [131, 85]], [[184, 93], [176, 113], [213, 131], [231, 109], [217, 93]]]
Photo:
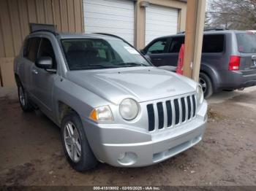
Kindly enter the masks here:
[[87, 171], [97, 165], [80, 117], [69, 112], [61, 122], [61, 141], [67, 161], [76, 171]]

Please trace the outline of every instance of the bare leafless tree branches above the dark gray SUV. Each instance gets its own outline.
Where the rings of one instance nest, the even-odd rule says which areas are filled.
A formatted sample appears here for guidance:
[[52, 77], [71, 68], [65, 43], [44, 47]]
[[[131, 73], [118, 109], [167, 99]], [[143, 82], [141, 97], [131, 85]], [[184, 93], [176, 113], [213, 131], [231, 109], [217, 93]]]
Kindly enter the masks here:
[[256, 0], [211, 0], [212, 24], [237, 30], [256, 29]]

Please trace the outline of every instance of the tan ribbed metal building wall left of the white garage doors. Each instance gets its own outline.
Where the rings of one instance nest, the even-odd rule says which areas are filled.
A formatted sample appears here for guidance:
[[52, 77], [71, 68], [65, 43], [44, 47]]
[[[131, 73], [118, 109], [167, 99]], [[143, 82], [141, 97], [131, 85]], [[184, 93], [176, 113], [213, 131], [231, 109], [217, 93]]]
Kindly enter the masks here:
[[29, 23], [56, 24], [58, 31], [83, 32], [82, 0], [0, 0], [2, 86], [14, 84], [12, 61], [29, 34]]

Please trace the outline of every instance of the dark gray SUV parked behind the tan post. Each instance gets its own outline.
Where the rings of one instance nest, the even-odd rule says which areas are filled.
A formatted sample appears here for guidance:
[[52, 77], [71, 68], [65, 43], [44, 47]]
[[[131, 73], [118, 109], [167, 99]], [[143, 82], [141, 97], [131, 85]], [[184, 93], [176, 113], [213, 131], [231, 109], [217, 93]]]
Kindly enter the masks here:
[[[176, 66], [185, 35], [154, 39], [141, 52], [155, 66]], [[256, 34], [246, 31], [205, 31], [200, 84], [205, 97], [219, 90], [256, 85]]]

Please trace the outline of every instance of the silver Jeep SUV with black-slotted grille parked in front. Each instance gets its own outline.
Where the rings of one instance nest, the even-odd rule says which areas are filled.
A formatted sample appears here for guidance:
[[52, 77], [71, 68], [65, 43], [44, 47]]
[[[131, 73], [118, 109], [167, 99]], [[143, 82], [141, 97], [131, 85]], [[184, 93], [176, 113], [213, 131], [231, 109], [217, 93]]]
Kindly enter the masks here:
[[40, 109], [61, 128], [77, 171], [98, 161], [159, 163], [197, 144], [206, 129], [200, 85], [152, 66], [115, 36], [34, 31], [14, 66], [21, 108]]

